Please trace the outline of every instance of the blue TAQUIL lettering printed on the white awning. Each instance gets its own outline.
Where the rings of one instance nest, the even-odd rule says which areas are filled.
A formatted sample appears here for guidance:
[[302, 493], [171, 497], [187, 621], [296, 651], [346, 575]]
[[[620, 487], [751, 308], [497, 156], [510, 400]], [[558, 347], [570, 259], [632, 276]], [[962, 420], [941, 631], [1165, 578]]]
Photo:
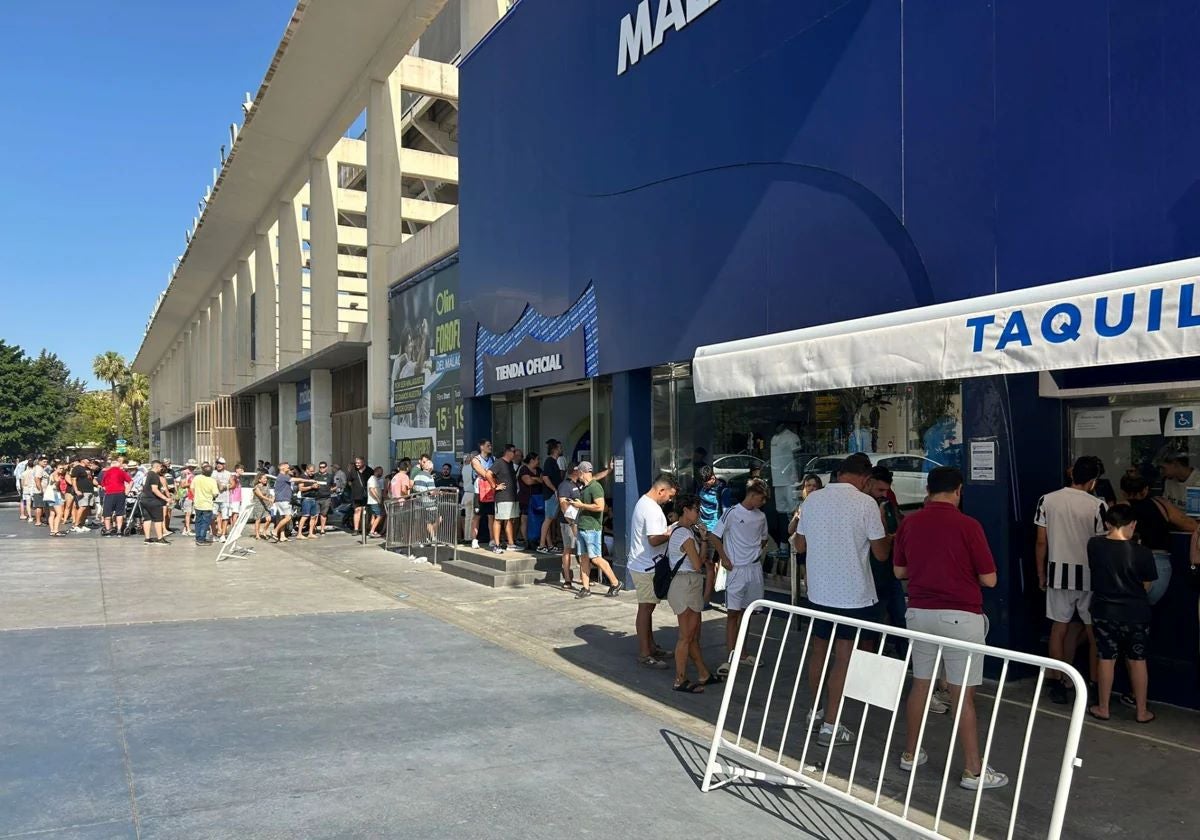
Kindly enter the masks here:
[[[1172, 295], [1178, 294], [1178, 312], [1172, 326], [1181, 330], [1200, 326], [1200, 300], [1196, 300], [1195, 287], [1195, 282], [1189, 282], [1180, 284], [1177, 293], [1171, 290]], [[1136, 290], [1118, 290], [1096, 298], [1091, 305], [1094, 308], [1062, 301], [1044, 312], [1038, 306], [1034, 312], [1013, 310], [1007, 317], [1003, 313], [972, 316], [966, 319], [965, 325], [970, 330], [972, 353], [983, 353], [985, 344], [994, 350], [1004, 350], [1010, 344], [1032, 347], [1037, 338], [1050, 344], [1064, 344], [1079, 341], [1088, 329], [1094, 329], [1096, 336], [1100, 338], [1116, 338], [1141, 329], [1142, 325], [1146, 332], [1158, 332], [1163, 329], [1164, 292], [1156, 288], [1140, 295]], [[1031, 332], [1030, 320], [1039, 314], [1034, 328], [1037, 331]], [[998, 335], [989, 332], [989, 328], [997, 324], [1002, 324]], [[991, 341], [989, 336], [996, 337]]]

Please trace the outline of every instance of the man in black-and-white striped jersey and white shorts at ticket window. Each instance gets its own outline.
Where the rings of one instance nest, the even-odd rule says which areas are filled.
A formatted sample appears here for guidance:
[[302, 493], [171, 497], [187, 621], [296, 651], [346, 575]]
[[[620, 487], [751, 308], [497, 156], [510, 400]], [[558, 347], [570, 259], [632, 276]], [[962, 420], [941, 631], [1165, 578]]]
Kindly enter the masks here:
[[[1087, 566], [1087, 541], [1103, 535], [1103, 499], [1092, 496], [1096, 481], [1104, 472], [1100, 460], [1085, 455], [1070, 470], [1070, 486], [1038, 499], [1033, 523], [1038, 527], [1038, 583], [1046, 594], [1046, 618], [1050, 628], [1050, 656], [1069, 662], [1075, 646], [1068, 644], [1068, 625], [1079, 613], [1087, 632], [1088, 670], [1096, 682], [1096, 636], [1092, 634], [1092, 575]], [[1048, 562], [1049, 560], [1049, 562]], [[1070, 683], [1058, 674], [1050, 683], [1050, 700], [1070, 701]]]

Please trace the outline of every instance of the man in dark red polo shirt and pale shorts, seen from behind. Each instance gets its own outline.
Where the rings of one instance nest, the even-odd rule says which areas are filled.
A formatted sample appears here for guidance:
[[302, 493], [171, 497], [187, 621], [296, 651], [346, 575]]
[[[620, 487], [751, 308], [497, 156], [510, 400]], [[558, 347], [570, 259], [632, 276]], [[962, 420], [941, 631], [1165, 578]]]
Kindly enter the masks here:
[[[988, 547], [983, 527], [959, 510], [962, 502], [962, 473], [954, 467], [936, 467], [929, 472], [929, 500], [923, 510], [906, 516], [896, 530], [892, 563], [895, 576], [908, 581], [910, 630], [946, 636], [950, 640], [984, 644], [988, 617], [983, 613], [983, 589], [996, 586], [996, 563]], [[908, 694], [908, 740], [900, 767], [912, 770], [928, 761], [925, 750], [917, 752], [917, 736], [925, 713], [925, 697], [934, 677], [937, 646], [913, 642], [912, 691]], [[983, 683], [983, 656], [971, 656], [950, 647], [942, 648], [942, 665], [950, 684], [950, 708], [958, 708], [959, 740], [966, 767], [959, 786], [968, 791], [1003, 787], [1008, 776], [983, 767], [979, 757], [979, 726], [976, 720], [976, 686]]]

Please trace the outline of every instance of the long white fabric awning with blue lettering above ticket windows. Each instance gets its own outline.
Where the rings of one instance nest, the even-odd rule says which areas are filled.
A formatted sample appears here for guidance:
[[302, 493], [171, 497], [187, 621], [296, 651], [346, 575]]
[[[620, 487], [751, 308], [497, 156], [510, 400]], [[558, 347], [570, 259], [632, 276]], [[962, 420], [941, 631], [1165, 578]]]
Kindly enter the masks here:
[[700, 347], [698, 402], [1200, 355], [1200, 258]]

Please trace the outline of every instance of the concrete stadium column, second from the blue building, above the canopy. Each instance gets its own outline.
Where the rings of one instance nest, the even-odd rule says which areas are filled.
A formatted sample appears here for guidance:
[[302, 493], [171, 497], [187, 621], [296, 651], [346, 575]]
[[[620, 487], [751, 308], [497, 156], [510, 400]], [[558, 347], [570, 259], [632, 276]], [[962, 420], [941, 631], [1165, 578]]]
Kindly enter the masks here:
[[[398, 187], [398, 184], [396, 185]], [[313, 353], [338, 340], [337, 332], [337, 161], [312, 161], [308, 180], [308, 316]]]

